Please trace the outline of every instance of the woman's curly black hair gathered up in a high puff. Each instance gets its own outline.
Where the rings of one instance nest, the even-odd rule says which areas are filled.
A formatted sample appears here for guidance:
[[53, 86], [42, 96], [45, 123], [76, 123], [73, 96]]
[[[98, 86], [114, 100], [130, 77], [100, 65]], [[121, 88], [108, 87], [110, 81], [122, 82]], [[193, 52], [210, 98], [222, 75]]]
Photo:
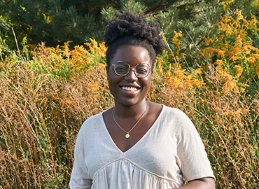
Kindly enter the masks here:
[[108, 46], [106, 51], [108, 66], [118, 47], [134, 45], [148, 50], [153, 67], [157, 55], [162, 54], [163, 49], [166, 48], [162, 42], [162, 36], [159, 35], [159, 24], [146, 20], [144, 13], [139, 16], [130, 11], [125, 13], [116, 12], [116, 14], [118, 19], [110, 20], [104, 34], [104, 41]]

